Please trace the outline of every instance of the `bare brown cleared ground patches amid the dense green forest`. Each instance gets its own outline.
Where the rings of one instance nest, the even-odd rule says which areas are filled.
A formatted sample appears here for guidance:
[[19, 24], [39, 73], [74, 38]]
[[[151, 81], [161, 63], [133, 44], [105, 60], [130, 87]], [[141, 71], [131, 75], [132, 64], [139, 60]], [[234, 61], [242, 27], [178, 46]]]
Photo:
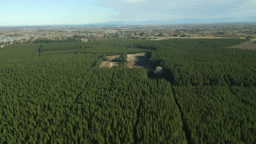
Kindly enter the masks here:
[[[129, 68], [143, 68], [147, 66], [147, 56], [146, 52], [143, 53], [135, 53], [135, 54], [128, 54], [127, 55], [127, 64], [125, 67]], [[119, 62], [112, 62], [114, 58], [120, 57], [120, 55], [115, 56], [107, 56], [109, 61], [103, 61], [100, 64], [100, 68], [114, 68], [119, 67], [121, 63]]]

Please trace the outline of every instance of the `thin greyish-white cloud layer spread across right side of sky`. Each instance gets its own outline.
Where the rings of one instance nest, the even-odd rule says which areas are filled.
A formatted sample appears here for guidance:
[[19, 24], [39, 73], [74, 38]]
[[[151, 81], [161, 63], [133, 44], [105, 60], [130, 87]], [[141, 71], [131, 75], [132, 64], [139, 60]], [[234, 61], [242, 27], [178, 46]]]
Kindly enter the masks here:
[[254, 16], [255, 0], [102, 0], [103, 7], [118, 11], [117, 20], [219, 19]]

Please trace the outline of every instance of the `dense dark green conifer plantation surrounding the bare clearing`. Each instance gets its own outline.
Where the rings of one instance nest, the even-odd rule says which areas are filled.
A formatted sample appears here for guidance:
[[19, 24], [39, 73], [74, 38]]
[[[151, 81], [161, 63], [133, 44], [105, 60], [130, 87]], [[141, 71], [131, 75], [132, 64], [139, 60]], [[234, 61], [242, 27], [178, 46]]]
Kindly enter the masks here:
[[[0, 143], [256, 143], [242, 39], [37, 41], [0, 49]], [[150, 67], [99, 68], [147, 52]]]

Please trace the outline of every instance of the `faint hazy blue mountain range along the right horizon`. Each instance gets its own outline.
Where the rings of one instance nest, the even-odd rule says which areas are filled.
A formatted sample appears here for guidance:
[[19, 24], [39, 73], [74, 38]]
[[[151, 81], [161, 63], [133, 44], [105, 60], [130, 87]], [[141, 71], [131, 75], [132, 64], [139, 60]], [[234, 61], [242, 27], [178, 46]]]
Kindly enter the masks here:
[[167, 21], [113, 21], [104, 23], [90, 23], [89, 25], [164, 25], [164, 24], [193, 24], [193, 23], [243, 23], [256, 22], [256, 17], [225, 17], [222, 19], [179, 19]]

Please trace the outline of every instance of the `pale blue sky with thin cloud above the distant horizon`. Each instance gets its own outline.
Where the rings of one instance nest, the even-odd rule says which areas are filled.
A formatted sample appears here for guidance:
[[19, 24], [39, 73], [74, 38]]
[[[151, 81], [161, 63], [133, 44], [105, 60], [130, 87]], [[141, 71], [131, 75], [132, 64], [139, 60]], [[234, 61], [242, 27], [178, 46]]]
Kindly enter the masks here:
[[0, 26], [112, 21], [256, 22], [256, 0], [1, 0]]

